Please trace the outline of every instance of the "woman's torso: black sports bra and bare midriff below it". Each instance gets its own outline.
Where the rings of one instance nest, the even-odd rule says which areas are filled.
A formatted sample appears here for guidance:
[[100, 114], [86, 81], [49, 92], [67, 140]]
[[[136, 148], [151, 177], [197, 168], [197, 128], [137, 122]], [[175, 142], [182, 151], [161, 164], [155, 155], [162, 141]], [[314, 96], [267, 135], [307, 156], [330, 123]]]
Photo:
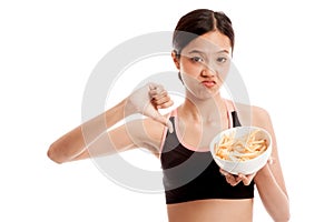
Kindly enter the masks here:
[[[239, 125], [234, 114], [229, 114], [229, 127]], [[184, 145], [176, 114], [173, 119], [175, 133], [167, 133], [160, 155], [169, 221], [252, 221], [254, 183], [227, 184], [209, 151], [195, 152]], [[175, 152], [186, 153], [186, 158]], [[196, 164], [188, 161], [191, 159]]]

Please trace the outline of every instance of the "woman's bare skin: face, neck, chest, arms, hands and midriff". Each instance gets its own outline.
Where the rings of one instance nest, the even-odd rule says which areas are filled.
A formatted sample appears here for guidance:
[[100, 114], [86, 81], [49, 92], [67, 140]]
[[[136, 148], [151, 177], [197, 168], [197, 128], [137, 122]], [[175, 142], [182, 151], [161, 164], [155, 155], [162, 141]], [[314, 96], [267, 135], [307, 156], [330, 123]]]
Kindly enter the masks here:
[[[79, 125], [55, 141], [48, 151], [49, 158], [55, 162], [62, 163], [136, 148], [147, 148], [156, 157], [159, 157], [159, 148], [164, 141], [163, 135], [166, 127], [170, 131], [177, 130], [180, 135], [179, 140], [184, 143], [199, 151], [207, 151], [213, 137], [228, 128], [226, 113], [227, 110], [233, 109], [233, 103], [220, 97], [219, 89], [227, 73], [226, 68], [230, 61], [230, 53], [229, 39], [218, 31], [208, 32], [193, 40], [183, 49], [180, 57], [171, 53], [186, 91], [185, 102], [177, 108], [178, 124], [176, 129], [173, 129], [167, 118], [160, 115], [157, 110], [157, 108], [171, 105], [168, 93], [161, 85], [146, 85], [101, 115]], [[250, 112], [250, 124], [264, 128], [272, 134], [273, 161], [252, 175], [235, 176], [223, 170], [220, 172], [230, 185], [240, 182], [248, 185], [254, 180], [262, 202], [273, 220], [288, 221], [288, 196], [269, 114], [258, 107], [246, 104], [236, 107], [242, 123], [248, 121]], [[102, 121], [109, 129], [125, 118], [124, 113], [138, 112], [149, 118], [129, 122], [127, 128], [120, 125], [110, 131], [99, 127]], [[144, 131], [140, 128], [144, 128]], [[89, 144], [87, 144], [87, 137], [82, 135], [82, 129], [90, 132]], [[134, 130], [129, 132], [127, 129]], [[95, 140], [97, 137], [99, 138]], [[106, 144], [104, 142], [106, 139], [110, 139], [112, 142]], [[214, 199], [167, 204], [167, 212], [170, 222], [247, 222], [253, 220], [253, 199]]]

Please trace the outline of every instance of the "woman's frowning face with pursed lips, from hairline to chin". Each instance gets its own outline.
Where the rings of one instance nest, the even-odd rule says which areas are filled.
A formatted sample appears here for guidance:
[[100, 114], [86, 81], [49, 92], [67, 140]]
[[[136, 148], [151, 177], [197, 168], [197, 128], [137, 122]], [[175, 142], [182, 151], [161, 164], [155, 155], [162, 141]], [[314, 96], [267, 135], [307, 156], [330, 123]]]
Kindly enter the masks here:
[[212, 31], [190, 41], [177, 62], [188, 92], [198, 99], [219, 93], [230, 63], [230, 41], [218, 31]]

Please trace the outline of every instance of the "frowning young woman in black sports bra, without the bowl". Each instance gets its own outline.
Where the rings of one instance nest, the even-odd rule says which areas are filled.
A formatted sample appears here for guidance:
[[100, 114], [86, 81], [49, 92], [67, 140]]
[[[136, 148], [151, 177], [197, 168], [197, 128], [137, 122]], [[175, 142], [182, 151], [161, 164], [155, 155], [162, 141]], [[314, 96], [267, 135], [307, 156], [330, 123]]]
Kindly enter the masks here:
[[[252, 221], [255, 185], [273, 220], [288, 221], [288, 196], [269, 114], [258, 107], [235, 105], [219, 93], [234, 48], [230, 20], [223, 12], [191, 11], [180, 18], [173, 44], [171, 58], [186, 95], [176, 110], [160, 115], [157, 109], [173, 102], [161, 85], [146, 85], [53, 142], [49, 158], [58, 163], [81, 160], [89, 158], [88, 149], [110, 154], [110, 148], [94, 140], [108, 133], [114, 152], [147, 148], [160, 159], [170, 222]], [[97, 127], [104, 120], [111, 128], [125, 118], [124, 113], [138, 112], [149, 118], [108, 132]], [[217, 167], [208, 147], [217, 132], [243, 123], [264, 128], [272, 134], [273, 161], [254, 174], [233, 175]], [[131, 130], [129, 134], [127, 129], [138, 124], [144, 125], [145, 133]], [[96, 135], [88, 145], [84, 128]]]

